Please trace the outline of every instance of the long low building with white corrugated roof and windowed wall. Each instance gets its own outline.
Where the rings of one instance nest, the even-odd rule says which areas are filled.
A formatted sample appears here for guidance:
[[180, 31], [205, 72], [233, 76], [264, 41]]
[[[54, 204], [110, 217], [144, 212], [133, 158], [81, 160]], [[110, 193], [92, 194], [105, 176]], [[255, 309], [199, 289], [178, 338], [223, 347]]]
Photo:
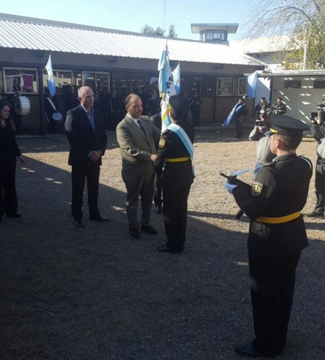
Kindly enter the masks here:
[[[184, 39], [167, 40], [171, 68], [181, 67], [181, 90], [202, 99], [201, 121], [222, 122], [246, 92], [244, 74], [264, 65], [228, 46]], [[45, 134], [44, 96], [52, 57], [57, 107], [63, 114], [77, 90], [89, 86], [121, 100], [136, 92], [145, 103], [158, 90], [158, 60], [166, 46], [159, 36], [0, 14], [0, 93], [21, 87], [30, 101], [22, 129]], [[70, 99], [70, 100], [69, 100]]]

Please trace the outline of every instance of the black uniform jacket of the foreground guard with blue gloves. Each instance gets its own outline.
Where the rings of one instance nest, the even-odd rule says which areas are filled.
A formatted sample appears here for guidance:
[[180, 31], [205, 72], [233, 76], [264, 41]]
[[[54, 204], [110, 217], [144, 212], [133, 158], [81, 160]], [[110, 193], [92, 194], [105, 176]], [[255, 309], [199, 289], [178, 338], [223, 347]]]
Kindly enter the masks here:
[[284, 222], [269, 224], [256, 221], [259, 216], [281, 217], [301, 211], [306, 204], [312, 165], [296, 154], [278, 156], [263, 166], [247, 192], [233, 189], [239, 207], [251, 219], [248, 250], [259, 255], [298, 254], [308, 246], [302, 215]]

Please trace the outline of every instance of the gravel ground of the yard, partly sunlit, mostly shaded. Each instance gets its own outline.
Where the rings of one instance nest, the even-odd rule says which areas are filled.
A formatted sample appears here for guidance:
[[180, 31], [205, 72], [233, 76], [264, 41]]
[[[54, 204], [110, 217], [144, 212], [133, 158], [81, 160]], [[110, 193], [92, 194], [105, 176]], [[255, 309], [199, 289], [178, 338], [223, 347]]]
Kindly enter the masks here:
[[[247, 130], [247, 134], [248, 134]], [[125, 187], [114, 132], [100, 177], [99, 208], [109, 223], [73, 225], [65, 135], [19, 138], [20, 219], [0, 224], [0, 359], [240, 359], [253, 339], [248, 287], [248, 219], [219, 172], [252, 168], [256, 143], [233, 129], [198, 130], [196, 179], [189, 197], [183, 254], [162, 254], [158, 236], [128, 235]], [[316, 160], [316, 142], [299, 154]], [[250, 182], [252, 173], [240, 176]], [[315, 205], [314, 178], [305, 211]], [[306, 219], [310, 246], [301, 255], [284, 360], [325, 359], [325, 220]]]

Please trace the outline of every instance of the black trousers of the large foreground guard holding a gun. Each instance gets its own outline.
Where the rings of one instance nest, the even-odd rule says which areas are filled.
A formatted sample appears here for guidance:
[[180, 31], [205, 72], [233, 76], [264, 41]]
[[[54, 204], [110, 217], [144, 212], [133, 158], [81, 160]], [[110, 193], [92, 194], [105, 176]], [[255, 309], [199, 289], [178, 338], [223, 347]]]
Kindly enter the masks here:
[[253, 346], [261, 354], [275, 356], [284, 349], [299, 257], [300, 253], [282, 256], [248, 253]]

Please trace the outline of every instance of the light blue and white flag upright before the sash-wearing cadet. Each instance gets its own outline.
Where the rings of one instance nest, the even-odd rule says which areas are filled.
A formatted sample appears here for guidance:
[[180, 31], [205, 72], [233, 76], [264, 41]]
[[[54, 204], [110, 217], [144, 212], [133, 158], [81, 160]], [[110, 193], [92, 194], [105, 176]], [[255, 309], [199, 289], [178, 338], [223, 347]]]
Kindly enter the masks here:
[[158, 62], [159, 71], [159, 96], [162, 98], [162, 132], [166, 130], [171, 123], [169, 119], [169, 97], [176, 95], [175, 85], [173, 83], [173, 74], [169, 65], [168, 49], [163, 50], [162, 56]]

